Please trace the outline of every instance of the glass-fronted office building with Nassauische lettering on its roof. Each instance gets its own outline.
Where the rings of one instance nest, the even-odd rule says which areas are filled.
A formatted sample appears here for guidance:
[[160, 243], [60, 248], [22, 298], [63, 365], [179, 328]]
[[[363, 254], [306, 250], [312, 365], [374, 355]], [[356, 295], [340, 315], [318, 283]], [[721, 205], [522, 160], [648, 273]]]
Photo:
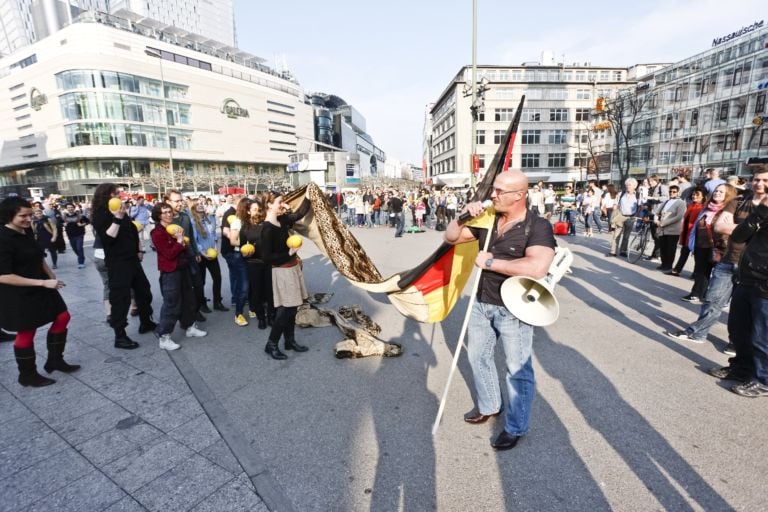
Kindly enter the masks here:
[[[743, 32], [715, 39], [710, 49], [648, 73], [622, 92], [638, 105], [624, 117], [632, 124], [629, 174], [696, 178], [709, 167], [748, 174], [747, 158], [768, 156], [768, 27], [757, 22]], [[620, 149], [624, 159], [623, 143]]]

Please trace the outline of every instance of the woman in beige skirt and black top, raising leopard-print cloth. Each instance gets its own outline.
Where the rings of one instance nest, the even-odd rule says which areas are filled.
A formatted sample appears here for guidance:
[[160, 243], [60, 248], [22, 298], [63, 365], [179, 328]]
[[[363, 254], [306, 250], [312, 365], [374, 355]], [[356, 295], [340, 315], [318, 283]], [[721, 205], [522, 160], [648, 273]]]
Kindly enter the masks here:
[[309, 350], [296, 343], [294, 335], [296, 311], [309, 294], [304, 284], [301, 259], [296, 254], [298, 249], [289, 249], [287, 241], [290, 228], [309, 212], [310, 204], [305, 199], [296, 212], [288, 212], [283, 197], [271, 192], [264, 196], [264, 205], [267, 211], [261, 231], [261, 255], [272, 267], [272, 297], [277, 308], [264, 351], [273, 359], [286, 359], [278, 347], [281, 336], [285, 337], [286, 350]]

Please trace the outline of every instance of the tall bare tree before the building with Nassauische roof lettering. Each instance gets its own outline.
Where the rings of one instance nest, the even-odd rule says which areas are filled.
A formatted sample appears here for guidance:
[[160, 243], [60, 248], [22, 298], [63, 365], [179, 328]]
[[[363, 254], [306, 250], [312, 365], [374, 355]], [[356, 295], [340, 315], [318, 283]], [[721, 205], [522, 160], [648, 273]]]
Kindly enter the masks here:
[[[631, 165], [630, 144], [636, 133], [635, 123], [648, 100], [645, 93], [638, 94], [637, 89], [620, 91], [615, 99], [606, 103], [605, 114], [611, 123], [614, 139], [614, 154], [619, 167], [619, 182], [629, 176]], [[622, 155], [623, 150], [623, 155]]]

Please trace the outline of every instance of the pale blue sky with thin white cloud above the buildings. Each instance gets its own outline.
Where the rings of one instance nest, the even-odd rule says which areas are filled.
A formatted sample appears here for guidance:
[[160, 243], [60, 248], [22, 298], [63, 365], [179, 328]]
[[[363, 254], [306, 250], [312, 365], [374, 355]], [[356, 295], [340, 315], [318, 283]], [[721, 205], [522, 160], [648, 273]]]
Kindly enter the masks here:
[[[340, 96], [388, 158], [416, 165], [426, 105], [472, 62], [472, 0], [235, 0], [235, 19], [241, 49], [284, 57], [306, 92]], [[478, 0], [477, 62], [676, 62], [762, 19], [765, 0]]]

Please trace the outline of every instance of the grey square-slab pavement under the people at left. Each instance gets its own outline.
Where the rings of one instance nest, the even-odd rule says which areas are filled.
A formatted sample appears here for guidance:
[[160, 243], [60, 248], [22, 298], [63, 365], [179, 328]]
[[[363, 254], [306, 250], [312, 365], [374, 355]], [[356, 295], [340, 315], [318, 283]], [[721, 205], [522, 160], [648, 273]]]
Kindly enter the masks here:
[[112, 346], [93, 265], [78, 270], [70, 250], [56, 272], [72, 312], [65, 355], [82, 369], [24, 388], [12, 343], [0, 344], [0, 511], [267, 510], [154, 336], [132, 319], [141, 347]]

